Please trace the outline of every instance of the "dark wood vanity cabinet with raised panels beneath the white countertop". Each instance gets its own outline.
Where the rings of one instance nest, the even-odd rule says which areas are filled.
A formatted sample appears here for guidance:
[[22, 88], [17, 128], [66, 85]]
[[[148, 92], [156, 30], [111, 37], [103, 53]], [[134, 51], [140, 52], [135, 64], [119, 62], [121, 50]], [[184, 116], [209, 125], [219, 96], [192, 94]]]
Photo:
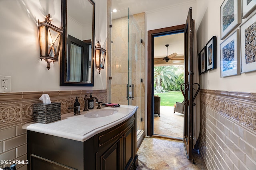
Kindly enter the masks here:
[[34, 131], [27, 134], [29, 170], [135, 170], [138, 165], [136, 112], [84, 142]]

